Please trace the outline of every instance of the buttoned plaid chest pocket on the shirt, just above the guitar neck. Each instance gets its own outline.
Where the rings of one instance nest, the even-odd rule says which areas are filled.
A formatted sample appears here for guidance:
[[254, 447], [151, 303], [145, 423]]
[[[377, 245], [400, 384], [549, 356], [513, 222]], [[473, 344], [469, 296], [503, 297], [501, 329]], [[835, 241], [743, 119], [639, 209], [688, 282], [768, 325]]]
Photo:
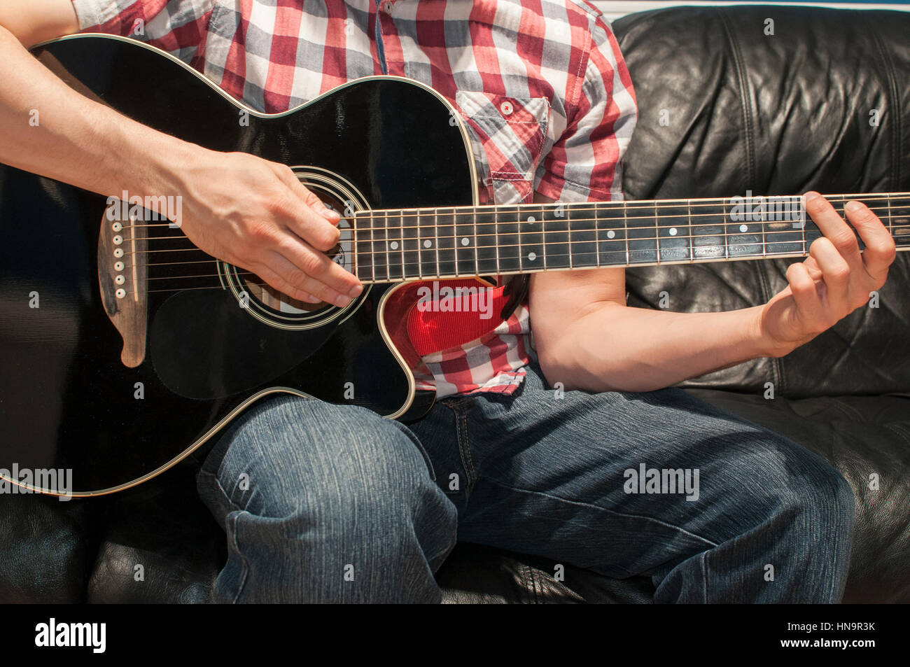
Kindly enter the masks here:
[[481, 196], [496, 204], [531, 202], [534, 173], [550, 143], [550, 101], [460, 90], [455, 103], [474, 141]]

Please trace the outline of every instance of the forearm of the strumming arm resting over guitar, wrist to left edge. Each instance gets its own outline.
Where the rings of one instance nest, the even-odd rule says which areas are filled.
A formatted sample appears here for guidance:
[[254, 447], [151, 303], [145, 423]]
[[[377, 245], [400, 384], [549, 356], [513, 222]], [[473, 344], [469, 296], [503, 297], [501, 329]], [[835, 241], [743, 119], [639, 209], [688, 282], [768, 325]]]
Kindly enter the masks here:
[[[169, 194], [197, 149], [80, 95], [0, 27], [0, 162], [106, 196]], [[167, 160], [166, 160], [167, 158]]]

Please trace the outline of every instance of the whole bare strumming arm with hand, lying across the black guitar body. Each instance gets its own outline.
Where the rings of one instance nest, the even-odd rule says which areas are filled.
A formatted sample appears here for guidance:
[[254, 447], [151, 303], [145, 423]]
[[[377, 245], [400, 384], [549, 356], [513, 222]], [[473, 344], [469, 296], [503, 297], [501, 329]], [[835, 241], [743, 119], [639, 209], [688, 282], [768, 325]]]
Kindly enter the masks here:
[[322, 252], [338, 240], [338, 214], [288, 167], [142, 126], [79, 95], [26, 51], [77, 28], [69, 0], [0, 4], [0, 162], [108, 197], [180, 196], [183, 231], [209, 254], [293, 298], [343, 306], [359, 294], [358, 279]]

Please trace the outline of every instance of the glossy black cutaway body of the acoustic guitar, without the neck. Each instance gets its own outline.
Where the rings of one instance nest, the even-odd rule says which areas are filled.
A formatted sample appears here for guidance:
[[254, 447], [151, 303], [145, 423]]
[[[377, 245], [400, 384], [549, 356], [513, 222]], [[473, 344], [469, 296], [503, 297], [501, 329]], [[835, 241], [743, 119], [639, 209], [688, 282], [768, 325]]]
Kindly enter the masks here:
[[[460, 119], [450, 124], [458, 116], [414, 82], [360, 79], [288, 114], [264, 116], [136, 42], [85, 35], [35, 53], [71, 86], [141, 123], [295, 167], [337, 205], [476, 203]], [[395, 288], [373, 285], [344, 310], [288, 315], [256, 299], [245, 307], [231, 288], [236, 269], [197, 250], [147, 254], [144, 348], [131, 368], [102, 298], [116, 288], [105, 266], [99, 282], [107, 248], [99, 250], [99, 236], [114, 233], [106, 203], [0, 166], [0, 476], [14, 466], [71, 469], [74, 495], [124, 489], [167, 470], [276, 391], [403, 419], [431, 404], [431, 395], [415, 393], [382, 323]], [[179, 234], [167, 225], [148, 229], [150, 237]], [[187, 282], [172, 278], [186, 269], [173, 265], [189, 257], [209, 260], [204, 266], [219, 275], [209, 269], [198, 273], [198, 288], [181, 288]]]

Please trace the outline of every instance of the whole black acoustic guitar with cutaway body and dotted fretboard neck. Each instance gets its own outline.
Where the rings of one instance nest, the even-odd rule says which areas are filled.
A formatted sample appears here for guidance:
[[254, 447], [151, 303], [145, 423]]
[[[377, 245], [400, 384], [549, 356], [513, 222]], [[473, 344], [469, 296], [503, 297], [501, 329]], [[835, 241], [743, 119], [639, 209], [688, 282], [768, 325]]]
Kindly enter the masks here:
[[[147, 126], [292, 167], [341, 212], [329, 254], [365, 289], [346, 308], [295, 302], [195, 248], [167, 197], [110, 201], [0, 166], [0, 478], [18, 490], [124, 490], [280, 392], [420, 417], [434, 397], [396, 307], [420, 281], [799, 258], [820, 236], [800, 197], [480, 206], [459, 114], [410, 79], [267, 115], [133, 40], [74, 35], [35, 56]], [[864, 201], [910, 248], [910, 193], [828, 198]]]

